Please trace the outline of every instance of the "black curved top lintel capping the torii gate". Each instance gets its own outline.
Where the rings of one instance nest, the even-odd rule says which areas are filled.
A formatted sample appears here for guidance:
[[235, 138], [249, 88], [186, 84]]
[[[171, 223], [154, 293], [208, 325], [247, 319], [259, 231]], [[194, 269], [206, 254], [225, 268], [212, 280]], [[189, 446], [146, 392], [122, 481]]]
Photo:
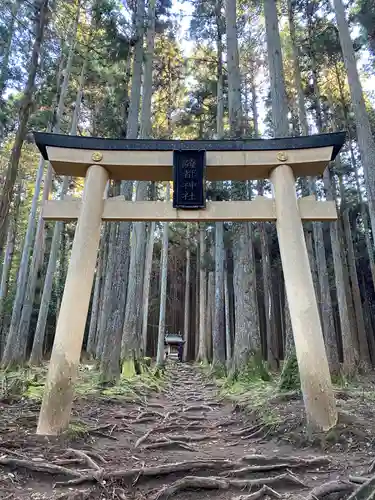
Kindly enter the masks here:
[[101, 137], [34, 132], [35, 143], [45, 160], [48, 160], [48, 146], [101, 151], [272, 151], [332, 146], [333, 152], [331, 160], [334, 160], [345, 142], [345, 137], [346, 132], [334, 132], [331, 134], [316, 134], [303, 137], [283, 137], [276, 139], [170, 141], [158, 139], [104, 139]]

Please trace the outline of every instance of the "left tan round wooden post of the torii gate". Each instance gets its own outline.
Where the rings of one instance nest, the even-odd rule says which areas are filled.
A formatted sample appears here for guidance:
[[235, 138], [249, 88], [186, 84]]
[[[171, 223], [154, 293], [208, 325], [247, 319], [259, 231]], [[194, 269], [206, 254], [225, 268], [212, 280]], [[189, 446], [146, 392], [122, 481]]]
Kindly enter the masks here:
[[92, 165], [83, 200], [56, 327], [37, 434], [57, 435], [69, 425], [100, 240], [107, 171]]

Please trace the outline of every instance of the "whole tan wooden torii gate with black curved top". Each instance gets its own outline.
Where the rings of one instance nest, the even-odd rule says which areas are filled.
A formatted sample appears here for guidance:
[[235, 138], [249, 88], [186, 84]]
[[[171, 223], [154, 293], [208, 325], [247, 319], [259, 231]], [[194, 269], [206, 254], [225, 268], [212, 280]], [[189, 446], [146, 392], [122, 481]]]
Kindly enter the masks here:
[[[45, 220], [77, 219], [78, 225], [37, 434], [57, 435], [69, 425], [103, 220], [276, 221], [307, 421], [322, 430], [336, 424], [336, 405], [302, 221], [333, 221], [337, 213], [333, 201], [316, 201], [310, 196], [297, 199], [295, 177], [321, 175], [341, 149], [344, 132], [225, 141], [114, 140], [48, 133], [34, 136], [44, 159], [50, 161], [56, 174], [85, 177], [82, 200], [47, 201], [42, 209]], [[196, 179], [198, 182], [194, 182], [194, 186], [200, 184], [201, 199], [190, 203], [193, 208], [174, 208], [181, 206], [176, 200], [172, 206], [155, 201], [125, 201], [121, 196], [104, 199], [108, 179], [174, 179], [179, 183], [181, 170], [176, 152], [181, 151], [185, 152], [185, 160], [189, 155], [200, 156], [203, 167]], [[187, 161], [195, 162], [189, 158]], [[269, 178], [274, 198], [211, 201], [206, 206], [202, 198], [203, 170], [210, 181]]]

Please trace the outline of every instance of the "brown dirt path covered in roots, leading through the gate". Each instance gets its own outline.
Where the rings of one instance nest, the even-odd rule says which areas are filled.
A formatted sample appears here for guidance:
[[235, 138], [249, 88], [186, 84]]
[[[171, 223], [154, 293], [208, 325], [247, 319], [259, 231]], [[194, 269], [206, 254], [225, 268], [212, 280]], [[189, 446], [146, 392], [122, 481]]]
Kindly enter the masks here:
[[367, 473], [363, 453], [313, 454], [265, 437], [189, 365], [170, 365], [167, 380], [139, 404], [77, 402], [88, 431], [74, 442], [20, 426], [18, 440], [1, 434], [0, 498], [327, 500], [325, 491], [358, 488], [349, 473]]

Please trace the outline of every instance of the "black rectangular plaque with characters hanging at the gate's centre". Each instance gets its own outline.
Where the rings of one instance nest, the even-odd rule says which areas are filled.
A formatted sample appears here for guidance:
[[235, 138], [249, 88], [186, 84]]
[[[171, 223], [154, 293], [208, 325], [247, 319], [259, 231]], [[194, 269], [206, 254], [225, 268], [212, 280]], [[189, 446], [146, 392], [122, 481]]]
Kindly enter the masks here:
[[173, 151], [173, 208], [206, 208], [206, 151]]

